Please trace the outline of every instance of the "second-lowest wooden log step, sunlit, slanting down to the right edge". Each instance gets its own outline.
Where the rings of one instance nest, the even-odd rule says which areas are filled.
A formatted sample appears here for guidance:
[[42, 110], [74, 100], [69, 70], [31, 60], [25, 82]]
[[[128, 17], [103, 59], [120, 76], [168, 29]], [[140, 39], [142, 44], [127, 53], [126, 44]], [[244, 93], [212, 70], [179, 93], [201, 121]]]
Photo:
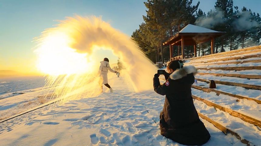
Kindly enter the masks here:
[[236, 112], [236, 111], [234, 111], [232, 109], [225, 108], [223, 106], [217, 105], [215, 103], [212, 103], [210, 101], [204, 100], [204, 99], [199, 98], [199, 97], [196, 97], [194, 95], [192, 95], [192, 98], [195, 99], [195, 100], [198, 100], [198, 101], [202, 101], [202, 102], [204, 102], [208, 106], [213, 106], [213, 107], [215, 107], [215, 108], [217, 108], [219, 110], [222, 110], [223, 112], [229, 113], [231, 116], [240, 118], [240, 119], [242, 119], [245, 122], [248, 122], [250, 124], [254, 124], [254, 125], [256, 125], [256, 126], [261, 128], [261, 121], [259, 121], [257, 119], [254, 119], [252, 117], [246, 116], [246, 115], [244, 115], [242, 113], [238, 113], [238, 112]]

